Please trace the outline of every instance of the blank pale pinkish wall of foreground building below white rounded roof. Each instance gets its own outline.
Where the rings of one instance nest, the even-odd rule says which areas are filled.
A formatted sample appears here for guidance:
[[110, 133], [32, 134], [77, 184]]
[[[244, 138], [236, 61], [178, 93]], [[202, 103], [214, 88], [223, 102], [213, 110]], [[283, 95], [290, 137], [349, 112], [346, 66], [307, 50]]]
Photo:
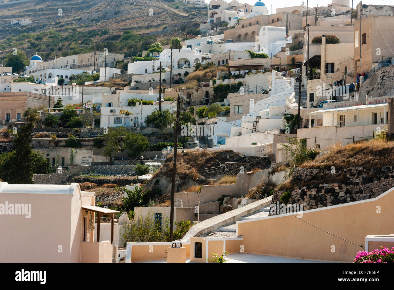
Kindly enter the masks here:
[[[31, 204], [32, 216], [2, 215], [0, 262], [69, 263], [71, 249], [72, 195], [2, 193], [0, 203]], [[78, 211], [79, 213], [80, 211]], [[76, 234], [78, 235], [78, 230]], [[78, 241], [79, 240], [78, 236]], [[59, 253], [59, 246], [62, 252]], [[80, 252], [78, 252], [79, 256]]]

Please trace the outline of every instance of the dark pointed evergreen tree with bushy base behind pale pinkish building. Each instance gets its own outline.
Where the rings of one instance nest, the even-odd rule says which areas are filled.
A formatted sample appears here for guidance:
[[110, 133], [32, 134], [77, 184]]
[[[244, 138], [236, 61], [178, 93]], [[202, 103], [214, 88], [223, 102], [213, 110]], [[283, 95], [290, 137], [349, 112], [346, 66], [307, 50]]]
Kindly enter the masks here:
[[33, 174], [52, 172], [48, 161], [32, 151], [32, 128], [33, 123], [24, 125], [14, 140], [13, 151], [0, 155], [0, 178], [3, 181], [32, 184]]

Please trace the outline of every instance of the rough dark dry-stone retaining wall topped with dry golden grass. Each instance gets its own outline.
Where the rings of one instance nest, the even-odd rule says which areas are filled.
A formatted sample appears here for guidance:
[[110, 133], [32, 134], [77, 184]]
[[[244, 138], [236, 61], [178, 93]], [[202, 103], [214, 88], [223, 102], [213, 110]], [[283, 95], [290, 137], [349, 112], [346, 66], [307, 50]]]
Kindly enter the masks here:
[[[296, 187], [288, 203], [303, 204], [304, 210], [310, 210], [374, 198], [394, 187], [394, 169], [353, 167], [331, 173], [324, 169], [298, 168], [292, 175], [292, 182], [307, 186]], [[274, 192], [272, 201], [280, 202], [283, 194], [284, 191]]]

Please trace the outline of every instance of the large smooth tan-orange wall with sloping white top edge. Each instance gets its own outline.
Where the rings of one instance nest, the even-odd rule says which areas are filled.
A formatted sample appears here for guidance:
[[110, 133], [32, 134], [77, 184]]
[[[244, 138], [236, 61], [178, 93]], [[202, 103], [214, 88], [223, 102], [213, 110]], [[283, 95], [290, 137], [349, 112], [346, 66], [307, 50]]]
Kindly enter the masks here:
[[[377, 198], [303, 211], [303, 221], [292, 215], [238, 221], [237, 235], [243, 236], [245, 253], [353, 262], [369, 233], [392, 232], [393, 205], [394, 188]], [[268, 228], [280, 230], [266, 234]]]

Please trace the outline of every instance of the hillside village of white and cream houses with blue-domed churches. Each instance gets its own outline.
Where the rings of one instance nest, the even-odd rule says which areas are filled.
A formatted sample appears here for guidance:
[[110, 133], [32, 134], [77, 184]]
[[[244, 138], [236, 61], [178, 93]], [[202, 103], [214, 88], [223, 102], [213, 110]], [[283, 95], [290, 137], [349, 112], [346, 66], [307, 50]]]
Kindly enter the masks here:
[[394, 260], [394, 6], [228, 1], [0, 3], [0, 262]]

